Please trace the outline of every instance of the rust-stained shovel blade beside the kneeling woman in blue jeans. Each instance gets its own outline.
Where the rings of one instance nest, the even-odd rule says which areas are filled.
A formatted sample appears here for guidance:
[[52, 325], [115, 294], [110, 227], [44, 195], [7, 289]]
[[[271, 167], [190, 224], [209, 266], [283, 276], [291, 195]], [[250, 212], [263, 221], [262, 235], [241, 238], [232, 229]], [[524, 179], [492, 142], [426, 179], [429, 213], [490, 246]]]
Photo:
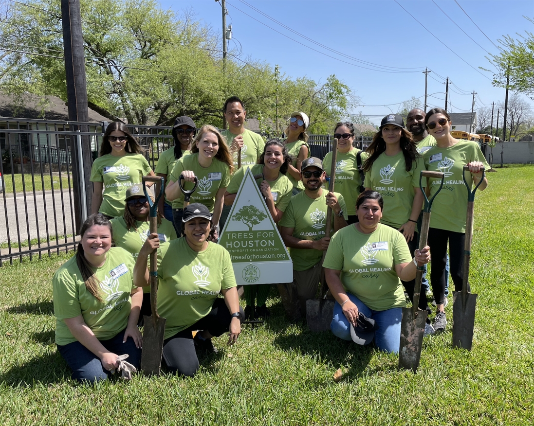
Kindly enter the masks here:
[[427, 311], [418, 310], [414, 314], [412, 308], [402, 308], [399, 368], [411, 369], [415, 373], [419, 367], [427, 315]]

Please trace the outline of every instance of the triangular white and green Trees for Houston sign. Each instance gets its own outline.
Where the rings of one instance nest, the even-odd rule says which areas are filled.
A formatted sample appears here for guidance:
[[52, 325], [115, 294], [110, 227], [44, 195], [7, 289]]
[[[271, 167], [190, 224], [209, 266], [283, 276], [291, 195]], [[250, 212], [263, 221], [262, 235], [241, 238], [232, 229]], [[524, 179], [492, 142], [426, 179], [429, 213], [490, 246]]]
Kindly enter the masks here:
[[238, 285], [293, 281], [293, 262], [249, 167], [218, 244], [230, 253]]

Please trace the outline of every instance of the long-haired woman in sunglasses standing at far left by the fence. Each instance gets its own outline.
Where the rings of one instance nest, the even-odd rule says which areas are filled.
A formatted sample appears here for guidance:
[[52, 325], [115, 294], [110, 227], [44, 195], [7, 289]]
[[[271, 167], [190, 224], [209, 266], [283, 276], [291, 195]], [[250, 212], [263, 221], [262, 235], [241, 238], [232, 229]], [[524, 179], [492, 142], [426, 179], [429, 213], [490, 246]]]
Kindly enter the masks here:
[[122, 215], [124, 191], [141, 183], [144, 175], [155, 176], [143, 154], [145, 150], [124, 123], [107, 126], [89, 179], [93, 182], [93, 214], [102, 213], [108, 219]]

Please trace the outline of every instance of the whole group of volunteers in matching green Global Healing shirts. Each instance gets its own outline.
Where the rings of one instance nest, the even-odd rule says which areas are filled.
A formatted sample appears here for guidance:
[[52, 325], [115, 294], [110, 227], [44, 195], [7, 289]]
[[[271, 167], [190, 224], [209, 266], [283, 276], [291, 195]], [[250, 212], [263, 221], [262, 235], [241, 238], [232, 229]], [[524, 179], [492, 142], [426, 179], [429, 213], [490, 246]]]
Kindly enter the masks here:
[[[285, 139], [266, 142], [245, 128], [239, 98], [227, 99], [223, 112], [229, 127], [223, 132], [210, 125], [197, 130], [192, 118], [176, 118], [175, 145], [160, 154], [155, 174], [126, 125], [107, 127], [92, 165], [92, 214], [80, 230], [75, 256], [52, 279], [56, 343], [74, 379], [105, 380], [126, 355], [139, 368], [139, 327], [144, 316], [152, 315], [147, 259], [154, 252], [158, 314], [166, 318], [163, 360], [169, 371], [193, 376], [199, 351], [217, 352], [212, 337], [228, 333], [233, 344], [242, 321], [270, 315], [268, 284], [245, 285], [246, 305], [240, 307], [230, 254], [216, 244], [247, 167], [289, 248], [293, 282], [278, 288], [281, 294], [294, 291], [297, 317], [305, 317], [306, 301], [315, 298], [324, 267], [335, 299], [334, 335], [360, 344], [374, 340], [380, 350], [397, 353], [404, 292], [413, 299], [417, 266], [431, 262], [436, 315], [425, 331], [444, 331], [447, 246], [454, 287], [462, 288], [463, 167], [469, 166], [469, 184], [479, 183], [481, 168], [489, 168], [476, 143], [451, 136], [445, 110], [425, 114], [414, 109], [407, 116], [408, 128], [400, 115], [384, 117], [365, 152], [354, 147], [354, 126], [337, 123], [334, 176], [329, 176], [332, 152], [323, 160], [310, 156], [310, 120], [304, 112], [290, 115]], [[434, 201], [428, 245], [419, 251], [423, 170], [444, 172], [446, 178]], [[155, 187], [145, 192], [144, 175], [166, 181], [152, 234], [149, 206]], [[335, 192], [325, 189], [329, 179]], [[195, 181], [189, 204], [182, 189], [193, 189]], [[438, 183], [430, 180], [429, 196]], [[484, 179], [480, 189], [486, 186]], [[326, 235], [328, 208], [331, 237]], [[284, 297], [282, 302], [290, 315]], [[419, 307], [431, 313], [425, 292]], [[373, 333], [359, 332], [362, 321], [374, 324]]]

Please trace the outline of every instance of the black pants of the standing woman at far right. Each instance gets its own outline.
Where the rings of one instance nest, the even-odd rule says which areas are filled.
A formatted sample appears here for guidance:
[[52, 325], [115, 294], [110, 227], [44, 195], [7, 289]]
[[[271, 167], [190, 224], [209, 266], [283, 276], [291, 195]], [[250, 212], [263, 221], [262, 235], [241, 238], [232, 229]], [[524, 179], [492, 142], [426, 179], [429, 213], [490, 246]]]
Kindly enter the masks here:
[[[454, 290], [462, 290], [464, 279], [464, 244], [465, 234], [430, 228], [428, 245], [431, 254], [430, 284], [436, 304], [442, 304], [445, 298], [445, 264], [447, 263], [447, 242], [449, 243], [450, 272]], [[469, 290], [469, 287], [467, 288]]]

